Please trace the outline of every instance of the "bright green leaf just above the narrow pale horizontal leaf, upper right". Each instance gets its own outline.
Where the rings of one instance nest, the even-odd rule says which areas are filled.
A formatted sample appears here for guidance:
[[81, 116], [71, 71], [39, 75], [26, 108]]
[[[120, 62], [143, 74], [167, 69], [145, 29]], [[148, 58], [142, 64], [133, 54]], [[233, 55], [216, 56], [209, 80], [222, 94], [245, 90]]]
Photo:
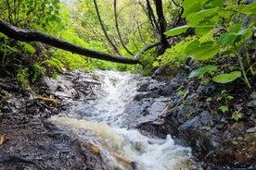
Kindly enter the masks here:
[[[196, 26], [202, 20], [211, 18], [214, 14], [217, 13], [218, 8], [204, 9], [200, 10], [197, 13], [189, 14], [186, 19], [188, 20], [189, 26]], [[207, 21], [207, 20], [205, 20]]]

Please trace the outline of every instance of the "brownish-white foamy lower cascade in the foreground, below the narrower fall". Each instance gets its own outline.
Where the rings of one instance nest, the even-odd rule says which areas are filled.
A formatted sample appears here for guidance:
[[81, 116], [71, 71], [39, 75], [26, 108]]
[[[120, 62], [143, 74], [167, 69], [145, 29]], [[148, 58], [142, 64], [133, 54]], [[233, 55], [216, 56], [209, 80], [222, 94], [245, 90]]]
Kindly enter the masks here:
[[136, 130], [110, 128], [105, 123], [70, 117], [52, 117], [51, 121], [65, 128], [75, 138], [96, 146], [109, 169], [133, 169], [131, 164], [118, 162], [113, 154], [134, 162], [135, 169], [186, 169], [191, 150], [175, 145], [171, 136], [166, 140], [151, 139]]

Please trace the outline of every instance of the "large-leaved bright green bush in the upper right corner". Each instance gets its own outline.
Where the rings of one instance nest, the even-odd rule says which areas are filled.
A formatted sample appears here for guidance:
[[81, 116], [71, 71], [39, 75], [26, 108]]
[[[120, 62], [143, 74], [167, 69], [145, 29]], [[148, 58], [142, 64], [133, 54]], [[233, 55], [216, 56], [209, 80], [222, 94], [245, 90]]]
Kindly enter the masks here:
[[[255, 31], [256, 2], [245, 5], [237, 4], [237, 1], [232, 0], [185, 0], [183, 6], [183, 18], [186, 18], [187, 25], [167, 30], [165, 34], [179, 35], [188, 28], [193, 28], [199, 37], [210, 32], [213, 39], [206, 42], [198, 40], [189, 42], [185, 54], [193, 55], [198, 61], [210, 60], [218, 57], [218, 54], [227, 57], [235, 55], [239, 68], [216, 75], [212, 80], [227, 83], [241, 78], [250, 88], [247, 69], [253, 76], [255, 71], [252, 67], [254, 64], [250, 63], [248, 50], [251, 45], [255, 49], [255, 40], [252, 40], [251, 36]], [[249, 66], [245, 67], [244, 60]], [[222, 70], [218, 71], [222, 72]]]

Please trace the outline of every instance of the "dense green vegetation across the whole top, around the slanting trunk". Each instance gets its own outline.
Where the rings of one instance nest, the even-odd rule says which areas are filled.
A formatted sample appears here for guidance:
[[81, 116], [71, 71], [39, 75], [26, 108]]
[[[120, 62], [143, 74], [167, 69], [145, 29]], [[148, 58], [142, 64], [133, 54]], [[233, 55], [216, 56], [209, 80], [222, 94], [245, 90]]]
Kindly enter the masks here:
[[[135, 55], [142, 65], [96, 60], [40, 42], [19, 42], [0, 33], [1, 77], [16, 79], [27, 87], [41, 76], [54, 78], [59, 71], [77, 68], [148, 75], [157, 67], [182, 69], [190, 55], [201, 66], [190, 73], [190, 78], [218, 83], [241, 78], [251, 88], [249, 77], [255, 76], [255, 9], [255, 2], [234, 0], [4, 0], [0, 2], [0, 18], [14, 26], [41, 30], [108, 54]], [[158, 46], [142, 50], [154, 42], [159, 42]]]

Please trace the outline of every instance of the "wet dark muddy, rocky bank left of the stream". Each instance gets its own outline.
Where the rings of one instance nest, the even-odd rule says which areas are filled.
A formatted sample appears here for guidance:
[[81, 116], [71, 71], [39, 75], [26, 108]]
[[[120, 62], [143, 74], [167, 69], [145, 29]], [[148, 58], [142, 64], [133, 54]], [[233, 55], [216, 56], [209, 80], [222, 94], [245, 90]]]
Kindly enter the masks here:
[[0, 100], [0, 169], [106, 169], [95, 152], [47, 122], [51, 115], [68, 111], [72, 103], [95, 97], [92, 86], [96, 82], [80, 78], [78, 73], [61, 77], [74, 82], [70, 87], [56, 87], [64, 92], [75, 89], [68, 97], [64, 93], [54, 95], [44, 80], [26, 91], [15, 82], [1, 82], [0, 91], [6, 95]]

